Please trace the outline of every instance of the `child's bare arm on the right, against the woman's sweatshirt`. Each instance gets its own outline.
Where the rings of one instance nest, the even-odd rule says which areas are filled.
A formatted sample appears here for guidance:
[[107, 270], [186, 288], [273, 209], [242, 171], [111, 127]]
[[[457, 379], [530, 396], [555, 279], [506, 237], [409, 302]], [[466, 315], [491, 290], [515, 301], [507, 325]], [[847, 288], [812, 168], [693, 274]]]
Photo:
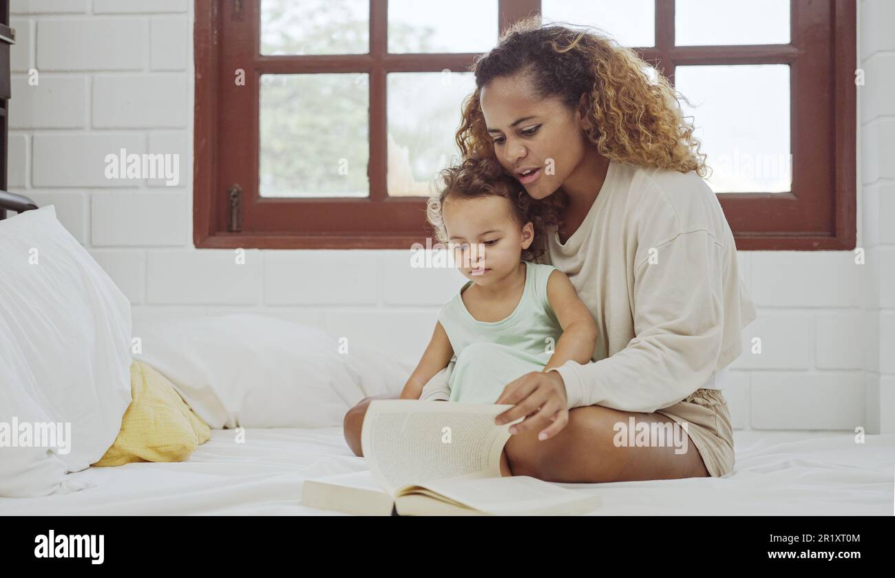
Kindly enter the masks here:
[[543, 370], [559, 367], [569, 360], [582, 365], [591, 361], [597, 344], [597, 326], [593, 322], [591, 311], [578, 297], [578, 293], [575, 293], [575, 286], [562, 271], [554, 270], [550, 273], [547, 279], [547, 299], [562, 327], [562, 336]]

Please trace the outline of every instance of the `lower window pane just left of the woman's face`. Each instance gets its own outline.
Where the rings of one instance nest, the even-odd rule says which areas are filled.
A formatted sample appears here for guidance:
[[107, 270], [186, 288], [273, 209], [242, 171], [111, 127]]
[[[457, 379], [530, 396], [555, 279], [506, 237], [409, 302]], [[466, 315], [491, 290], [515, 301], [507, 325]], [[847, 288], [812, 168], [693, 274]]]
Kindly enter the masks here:
[[472, 72], [388, 74], [388, 194], [428, 196], [438, 172], [458, 160], [460, 105]]

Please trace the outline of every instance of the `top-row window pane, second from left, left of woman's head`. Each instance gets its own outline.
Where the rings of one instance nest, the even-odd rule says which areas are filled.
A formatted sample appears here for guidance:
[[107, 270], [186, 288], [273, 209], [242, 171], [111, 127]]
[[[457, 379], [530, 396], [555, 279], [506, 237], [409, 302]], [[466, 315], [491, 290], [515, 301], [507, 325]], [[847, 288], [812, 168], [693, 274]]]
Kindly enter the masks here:
[[388, 0], [388, 52], [485, 52], [497, 42], [497, 0]]

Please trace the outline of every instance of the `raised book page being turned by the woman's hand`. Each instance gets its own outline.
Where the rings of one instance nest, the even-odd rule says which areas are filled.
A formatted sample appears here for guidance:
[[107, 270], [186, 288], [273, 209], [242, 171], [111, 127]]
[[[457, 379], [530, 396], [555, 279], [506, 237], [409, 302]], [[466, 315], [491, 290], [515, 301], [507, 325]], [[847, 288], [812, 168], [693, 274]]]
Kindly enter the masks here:
[[361, 430], [373, 478], [394, 496], [398, 489], [443, 478], [500, 477], [500, 454], [510, 423], [494, 418], [510, 404], [374, 400]]

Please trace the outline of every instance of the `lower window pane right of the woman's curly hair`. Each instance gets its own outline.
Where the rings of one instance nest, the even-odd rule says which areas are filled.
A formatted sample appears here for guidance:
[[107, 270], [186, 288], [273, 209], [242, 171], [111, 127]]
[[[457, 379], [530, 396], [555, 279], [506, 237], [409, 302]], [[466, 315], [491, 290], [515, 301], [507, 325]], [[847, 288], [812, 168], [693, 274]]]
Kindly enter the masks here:
[[678, 66], [675, 88], [694, 105], [713, 191], [791, 190], [787, 64]]

